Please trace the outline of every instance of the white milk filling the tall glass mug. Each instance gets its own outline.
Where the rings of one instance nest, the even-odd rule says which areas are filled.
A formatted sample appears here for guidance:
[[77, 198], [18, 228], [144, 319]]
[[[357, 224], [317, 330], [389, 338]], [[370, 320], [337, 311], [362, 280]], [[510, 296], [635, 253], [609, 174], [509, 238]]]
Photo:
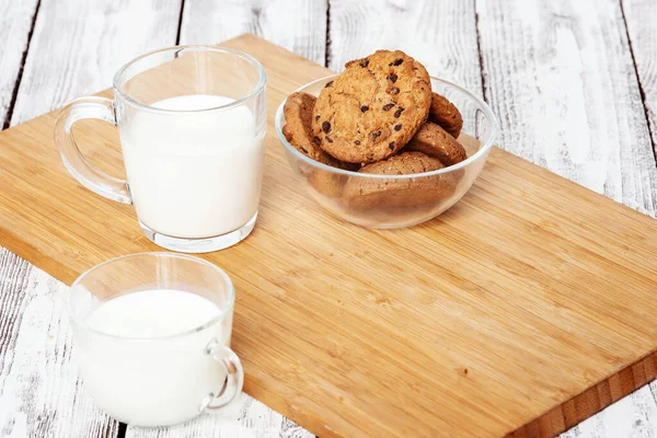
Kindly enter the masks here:
[[[219, 95], [183, 95], [139, 111], [120, 130], [128, 185], [139, 220], [175, 238], [234, 231], [257, 211], [264, 134], [247, 106]], [[187, 112], [185, 112], [187, 111]]]

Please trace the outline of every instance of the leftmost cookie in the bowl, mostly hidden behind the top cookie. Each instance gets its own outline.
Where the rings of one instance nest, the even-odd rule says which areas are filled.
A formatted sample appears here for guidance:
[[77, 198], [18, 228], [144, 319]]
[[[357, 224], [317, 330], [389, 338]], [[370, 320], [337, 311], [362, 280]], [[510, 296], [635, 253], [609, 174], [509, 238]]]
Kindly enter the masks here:
[[292, 93], [283, 107], [286, 125], [283, 135], [299, 152], [333, 168], [356, 170], [353, 164], [343, 163], [328, 155], [311, 140], [312, 113], [316, 97], [308, 93]]

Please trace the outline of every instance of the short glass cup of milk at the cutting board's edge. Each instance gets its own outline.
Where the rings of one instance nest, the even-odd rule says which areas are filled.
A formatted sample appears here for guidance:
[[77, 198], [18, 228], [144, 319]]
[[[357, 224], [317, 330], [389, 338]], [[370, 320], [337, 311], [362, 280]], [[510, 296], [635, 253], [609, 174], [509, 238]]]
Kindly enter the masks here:
[[135, 426], [220, 410], [244, 381], [230, 349], [234, 298], [223, 270], [184, 254], [138, 253], [85, 272], [68, 310], [87, 391]]

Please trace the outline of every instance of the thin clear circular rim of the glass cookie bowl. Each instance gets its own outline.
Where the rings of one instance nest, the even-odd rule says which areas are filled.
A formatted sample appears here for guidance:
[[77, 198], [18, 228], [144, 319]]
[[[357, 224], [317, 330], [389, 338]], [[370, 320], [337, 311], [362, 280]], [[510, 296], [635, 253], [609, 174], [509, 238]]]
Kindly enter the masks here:
[[[308, 82], [307, 84], [299, 87], [297, 90], [295, 90], [293, 93], [303, 91], [304, 89], [312, 87], [318, 82], [322, 82], [322, 81], [328, 80], [331, 78], [335, 78], [337, 76], [338, 76], [337, 73], [330, 74], [324, 78], [320, 78], [314, 81]], [[482, 146], [471, 157], [468, 157], [465, 160], [461, 161], [458, 164], [450, 165], [450, 166], [443, 168], [443, 169], [439, 169], [437, 171], [424, 172], [424, 173], [411, 173], [411, 174], [406, 174], [406, 175], [378, 175], [378, 174], [373, 174], [373, 173], [359, 173], [359, 172], [354, 172], [354, 171], [347, 171], [344, 169], [333, 168], [331, 165], [320, 163], [319, 161], [315, 161], [315, 160], [311, 159], [310, 157], [307, 157], [303, 153], [299, 152], [297, 150], [297, 148], [295, 148], [292, 145], [290, 145], [289, 141], [287, 140], [287, 138], [285, 138], [285, 136], [283, 135], [283, 126], [281, 126], [283, 107], [285, 106], [285, 103], [287, 102], [287, 97], [280, 103], [280, 105], [278, 105], [278, 108], [276, 110], [276, 116], [275, 116], [276, 134], [278, 135], [278, 139], [283, 143], [284, 148], [288, 152], [290, 152], [292, 155], [295, 155], [297, 159], [300, 159], [301, 161], [304, 161], [306, 163], [308, 163], [314, 168], [323, 169], [325, 171], [337, 173], [337, 174], [358, 176], [358, 177], [362, 177], [362, 178], [372, 178], [372, 180], [407, 180], [407, 178], [414, 178], [414, 177], [426, 177], [426, 176], [440, 175], [443, 173], [457, 171], [459, 169], [465, 168], [465, 166], [470, 165], [471, 163], [477, 161], [482, 155], [484, 155], [485, 153], [488, 152], [488, 150], [493, 147], [493, 141], [497, 137], [498, 120], [497, 120], [497, 117], [495, 117], [495, 114], [493, 114], [493, 110], [491, 110], [488, 104], [486, 102], [484, 102], [483, 100], [481, 100], [480, 97], [477, 97], [476, 95], [472, 94], [470, 91], [465, 90], [462, 87], [457, 85], [453, 82], [449, 82], [443, 79], [439, 79], [436, 77], [430, 77], [430, 79], [431, 79], [431, 81], [437, 81], [437, 82], [450, 85], [450, 87], [459, 90], [460, 92], [466, 94], [470, 99], [472, 99], [480, 105], [480, 107], [482, 108], [482, 111], [484, 112], [486, 117], [488, 117], [488, 119], [491, 120], [491, 125], [492, 125], [491, 134], [488, 136], [488, 140], [486, 141], [486, 143], [484, 146]]]

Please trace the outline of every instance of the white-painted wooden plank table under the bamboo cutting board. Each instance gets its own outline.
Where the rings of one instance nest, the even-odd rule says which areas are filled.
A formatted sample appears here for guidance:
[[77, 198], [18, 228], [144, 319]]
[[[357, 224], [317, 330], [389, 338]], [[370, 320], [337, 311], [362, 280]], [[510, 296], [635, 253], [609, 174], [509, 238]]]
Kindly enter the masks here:
[[[335, 70], [401, 48], [482, 95], [502, 148], [655, 217], [656, 23], [655, 0], [0, 0], [0, 127], [105, 89], [124, 62], [175, 44], [251, 32]], [[0, 252], [0, 436], [312, 436], [249, 396], [220, 418], [119, 425], [78, 379], [65, 293]], [[657, 384], [564, 436], [657, 436]]]

